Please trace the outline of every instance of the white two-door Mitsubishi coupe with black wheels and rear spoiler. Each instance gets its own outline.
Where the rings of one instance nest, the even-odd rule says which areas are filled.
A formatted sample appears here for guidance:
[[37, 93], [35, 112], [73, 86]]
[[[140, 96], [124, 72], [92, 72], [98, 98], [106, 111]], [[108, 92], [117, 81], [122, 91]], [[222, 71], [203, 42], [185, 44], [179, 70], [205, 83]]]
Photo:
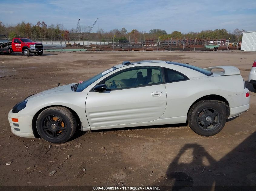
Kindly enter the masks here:
[[[215, 68], [223, 71], [214, 72]], [[8, 114], [15, 135], [52, 143], [82, 131], [188, 122], [203, 136], [249, 109], [248, 89], [234, 66], [198, 68], [177, 62], [125, 61], [87, 81], [27, 97]]]

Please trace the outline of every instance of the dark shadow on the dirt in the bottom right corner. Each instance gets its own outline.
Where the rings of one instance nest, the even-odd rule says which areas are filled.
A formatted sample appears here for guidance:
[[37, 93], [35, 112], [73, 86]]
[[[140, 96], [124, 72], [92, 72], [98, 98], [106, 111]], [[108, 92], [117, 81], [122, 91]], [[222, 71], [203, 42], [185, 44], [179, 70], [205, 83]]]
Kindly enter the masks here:
[[[197, 143], [186, 144], [170, 163], [165, 175], [150, 186], [161, 190], [255, 190], [256, 189], [256, 132], [216, 161]], [[192, 150], [190, 163], [178, 162], [182, 154]], [[209, 165], [203, 164], [207, 159]]]

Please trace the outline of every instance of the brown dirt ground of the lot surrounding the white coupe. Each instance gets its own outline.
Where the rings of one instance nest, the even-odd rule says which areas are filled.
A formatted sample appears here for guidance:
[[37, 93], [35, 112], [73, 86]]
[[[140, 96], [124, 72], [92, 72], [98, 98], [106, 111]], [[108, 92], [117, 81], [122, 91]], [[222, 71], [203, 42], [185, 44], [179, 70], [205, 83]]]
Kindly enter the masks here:
[[[236, 66], [250, 90], [250, 109], [212, 137], [187, 124], [77, 132], [65, 144], [11, 133], [8, 112], [28, 95], [86, 80], [124, 60], [145, 59]], [[247, 81], [255, 59], [256, 52], [241, 51], [0, 55], [0, 186], [255, 186], [256, 93]]]

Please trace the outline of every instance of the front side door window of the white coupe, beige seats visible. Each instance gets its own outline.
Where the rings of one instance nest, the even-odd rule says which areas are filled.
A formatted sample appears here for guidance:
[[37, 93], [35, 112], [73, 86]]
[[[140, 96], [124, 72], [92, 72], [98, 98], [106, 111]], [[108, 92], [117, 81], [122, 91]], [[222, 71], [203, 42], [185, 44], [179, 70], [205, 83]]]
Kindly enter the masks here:
[[125, 70], [105, 80], [108, 89], [135, 88], [162, 83], [161, 68], [136, 67]]

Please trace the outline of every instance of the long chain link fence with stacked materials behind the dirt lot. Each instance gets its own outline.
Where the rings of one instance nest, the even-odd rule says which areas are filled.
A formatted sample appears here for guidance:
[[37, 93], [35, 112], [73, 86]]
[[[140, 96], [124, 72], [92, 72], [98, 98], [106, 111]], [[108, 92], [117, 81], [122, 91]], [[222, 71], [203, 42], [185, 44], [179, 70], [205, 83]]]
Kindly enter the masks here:
[[79, 47], [93, 50], [113, 51], [118, 50], [133, 50], [133, 51], [207, 51], [207, 50], [240, 50], [241, 42], [234, 42], [226, 39], [143, 39], [143, 40], [118, 40], [115, 37], [112, 39], [31, 39], [35, 42], [42, 43], [44, 48], [66, 48]]

